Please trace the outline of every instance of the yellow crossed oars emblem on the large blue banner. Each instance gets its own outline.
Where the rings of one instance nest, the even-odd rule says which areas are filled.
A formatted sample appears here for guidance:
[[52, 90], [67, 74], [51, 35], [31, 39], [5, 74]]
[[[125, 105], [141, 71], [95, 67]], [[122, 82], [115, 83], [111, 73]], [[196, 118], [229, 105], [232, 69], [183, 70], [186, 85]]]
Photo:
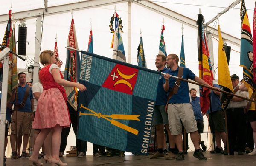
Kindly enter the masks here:
[[[79, 111], [79, 116], [81, 115], [90, 115], [90, 116], [97, 116], [97, 118], [104, 118], [107, 121], [110, 121], [111, 124], [115, 125], [116, 127], [119, 127], [121, 129], [124, 129], [128, 132], [131, 132], [135, 135], [138, 135], [138, 130], [134, 129], [132, 127], [129, 127], [125, 124], [120, 123], [119, 121], [116, 121], [114, 119], [122, 119], [122, 120], [134, 120], [134, 121], [140, 121], [140, 119], [138, 119], [138, 117], [140, 115], [125, 115], [125, 114], [112, 114], [112, 115], [102, 115], [101, 113], [96, 113], [93, 110], [84, 107], [83, 104], [81, 104], [80, 108], [84, 108], [85, 110], [90, 111], [91, 113], [81, 113], [81, 111]], [[111, 118], [111, 119], [109, 119]]]

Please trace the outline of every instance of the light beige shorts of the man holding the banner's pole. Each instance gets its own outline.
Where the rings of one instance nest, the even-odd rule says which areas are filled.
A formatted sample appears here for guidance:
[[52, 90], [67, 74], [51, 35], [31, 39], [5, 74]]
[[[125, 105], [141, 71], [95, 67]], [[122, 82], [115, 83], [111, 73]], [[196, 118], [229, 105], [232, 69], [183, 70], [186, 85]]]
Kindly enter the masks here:
[[181, 134], [182, 124], [187, 133], [198, 131], [194, 112], [190, 103], [168, 104], [167, 113], [169, 128], [172, 135]]

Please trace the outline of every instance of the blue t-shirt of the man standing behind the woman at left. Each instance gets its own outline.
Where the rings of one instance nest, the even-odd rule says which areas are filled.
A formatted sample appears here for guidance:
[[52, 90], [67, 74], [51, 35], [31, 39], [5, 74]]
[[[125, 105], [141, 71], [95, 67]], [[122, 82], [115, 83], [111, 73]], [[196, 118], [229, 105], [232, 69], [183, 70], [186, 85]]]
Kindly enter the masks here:
[[[26, 93], [26, 88], [27, 87], [28, 87], [28, 85], [25, 85], [25, 87], [21, 87], [20, 85], [18, 86], [18, 104], [20, 104], [21, 101], [23, 101], [23, 98], [24, 98], [24, 95]], [[26, 99], [25, 107], [19, 108], [18, 111], [32, 112], [32, 110], [31, 110], [31, 99], [33, 99], [33, 93], [32, 93], [32, 90], [30, 88], [28, 98]], [[14, 104], [16, 105], [16, 98], [14, 100]]]

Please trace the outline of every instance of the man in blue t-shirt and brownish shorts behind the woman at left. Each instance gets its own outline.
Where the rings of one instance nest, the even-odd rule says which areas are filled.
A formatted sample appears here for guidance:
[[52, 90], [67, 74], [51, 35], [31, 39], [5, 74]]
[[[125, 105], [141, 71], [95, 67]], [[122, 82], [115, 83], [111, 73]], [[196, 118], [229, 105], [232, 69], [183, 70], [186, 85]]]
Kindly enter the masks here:
[[[15, 134], [16, 134], [16, 126], [15, 123], [17, 123], [17, 135], [18, 140], [19, 137], [22, 137], [23, 135], [23, 149], [22, 149], [22, 158], [29, 158], [29, 154], [26, 152], [26, 147], [29, 141], [29, 133], [31, 129], [32, 124], [32, 110], [34, 106], [34, 98], [32, 94], [32, 90], [28, 85], [26, 85], [26, 74], [21, 72], [18, 74], [18, 103], [16, 103], [16, 98], [14, 101], [11, 101], [9, 104], [14, 104], [14, 107], [18, 107], [17, 111], [17, 121], [16, 121], [16, 111], [12, 114], [12, 122], [11, 122], [11, 136], [10, 136], [10, 142], [11, 142], [11, 148], [12, 148], [12, 159], [15, 159], [17, 157], [17, 152], [15, 151]], [[26, 101], [24, 100], [24, 96], [26, 94], [26, 90], [29, 88], [29, 93], [27, 95]], [[16, 93], [16, 92], [14, 92]], [[20, 148], [20, 141], [17, 143], [18, 149]]]

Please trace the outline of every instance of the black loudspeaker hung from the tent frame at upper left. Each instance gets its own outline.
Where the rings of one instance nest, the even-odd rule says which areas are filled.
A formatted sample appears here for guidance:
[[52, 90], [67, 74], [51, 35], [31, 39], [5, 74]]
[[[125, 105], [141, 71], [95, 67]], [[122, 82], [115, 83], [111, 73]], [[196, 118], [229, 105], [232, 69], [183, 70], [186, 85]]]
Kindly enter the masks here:
[[27, 27], [19, 27], [18, 54], [26, 55], [26, 33]]

